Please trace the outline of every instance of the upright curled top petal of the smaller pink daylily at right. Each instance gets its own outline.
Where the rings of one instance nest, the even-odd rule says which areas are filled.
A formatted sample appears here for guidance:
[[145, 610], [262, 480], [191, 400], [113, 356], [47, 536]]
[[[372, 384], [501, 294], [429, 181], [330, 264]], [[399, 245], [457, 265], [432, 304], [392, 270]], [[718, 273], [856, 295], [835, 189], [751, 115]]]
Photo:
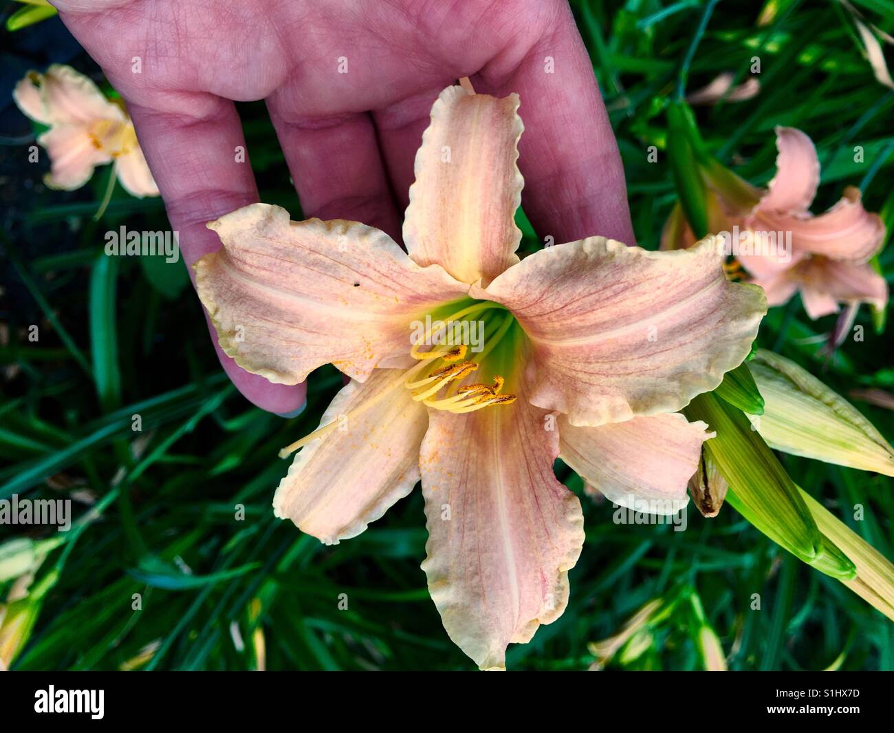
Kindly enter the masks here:
[[776, 175], [758, 204], [764, 211], [807, 211], [820, 183], [813, 141], [794, 127], [776, 128]]

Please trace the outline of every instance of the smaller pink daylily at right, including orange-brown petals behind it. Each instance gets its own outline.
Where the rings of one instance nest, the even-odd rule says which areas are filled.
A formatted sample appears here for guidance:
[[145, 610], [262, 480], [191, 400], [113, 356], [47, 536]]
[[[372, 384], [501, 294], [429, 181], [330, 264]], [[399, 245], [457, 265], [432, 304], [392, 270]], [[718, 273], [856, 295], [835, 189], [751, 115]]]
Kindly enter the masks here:
[[[837, 312], [839, 303], [884, 307], [888, 286], [869, 264], [884, 239], [881, 218], [864, 209], [854, 187], [846, 188], [841, 200], [824, 214], [811, 214], [820, 182], [814, 143], [800, 130], [777, 127], [776, 146], [776, 175], [766, 190], [720, 164], [701, 169], [709, 192], [711, 231], [732, 232], [738, 226], [753, 235], [790, 233], [790, 257], [738, 254], [751, 282], [766, 291], [770, 305], [786, 303], [800, 292], [805, 311], [814, 320]], [[678, 205], [665, 226], [662, 249], [694, 241]]]

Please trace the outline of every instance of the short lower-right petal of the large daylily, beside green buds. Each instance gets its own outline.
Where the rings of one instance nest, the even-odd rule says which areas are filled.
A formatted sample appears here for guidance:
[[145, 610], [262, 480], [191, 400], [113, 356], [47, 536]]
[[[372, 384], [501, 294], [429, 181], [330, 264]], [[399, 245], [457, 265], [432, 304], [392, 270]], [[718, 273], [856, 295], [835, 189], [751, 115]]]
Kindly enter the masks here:
[[597, 428], [559, 422], [561, 459], [620, 507], [672, 515], [688, 502], [687, 483], [698, 469], [704, 422], [679, 413], [635, 417]]

